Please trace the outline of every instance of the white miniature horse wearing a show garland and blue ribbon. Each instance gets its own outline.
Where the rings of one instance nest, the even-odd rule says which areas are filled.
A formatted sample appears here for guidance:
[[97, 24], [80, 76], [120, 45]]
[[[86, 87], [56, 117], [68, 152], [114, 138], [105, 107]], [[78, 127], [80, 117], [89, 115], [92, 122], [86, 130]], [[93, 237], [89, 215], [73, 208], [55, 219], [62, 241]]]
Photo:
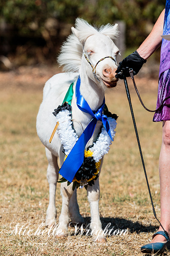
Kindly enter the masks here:
[[[91, 109], [96, 111], [102, 105], [105, 90], [115, 87], [118, 81], [115, 77], [115, 71], [117, 69], [116, 56], [119, 54], [119, 49], [113, 43], [113, 39], [118, 34], [117, 24], [114, 26], [108, 24], [98, 29], [89, 25], [85, 20], [77, 18], [75, 28], [72, 27], [72, 34], [63, 44], [58, 58], [60, 66], [64, 66], [64, 71], [68, 73], [57, 74], [45, 84], [42, 104], [37, 115], [37, 134], [41, 142], [45, 145], [46, 156], [48, 158], [47, 179], [50, 193], [46, 215], [46, 225], [48, 226], [52, 226], [56, 222], [57, 216], [55, 206], [59, 170], [57, 157], [59, 157], [61, 165], [65, 157], [57, 133], [54, 134], [51, 144], [49, 143], [49, 138], [56, 125], [56, 118], [52, 112], [58, 105], [62, 104], [69, 85], [75, 82], [73, 87], [74, 95], [71, 102], [72, 119], [78, 137], [82, 134], [82, 128], [86, 128], [91, 121], [91, 116], [88, 113], [80, 111], [77, 107], [75, 97], [77, 76], [79, 75], [81, 78], [81, 95], [88, 102]], [[96, 66], [96, 79], [92, 73], [92, 67], [85, 56], [93, 66], [106, 56], [112, 56], [115, 61], [113, 61], [113, 58], [105, 58], [100, 61]], [[102, 122], [98, 121], [94, 134], [86, 145], [86, 148], [95, 140], [101, 125]], [[69, 217], [76, 223], [83, 222], [83, 218], [79, 213], [76, 193], [76, 189], [74, 191], [72, 189], [72, 183], [69, 186], [67, 186], [67, 182], [61, 183], [62, 210], [59, 217], [59, 226], [57, 227], [58, 236], [68, 235]], [[94, 185], [88, 186], [87, 188], [88, 201], [91, 208], [90, 227], [93, 232], [92, 239], [103, 242], [105, 241], [105, 234], [102, 233], [102, 225], [99, 218], [99, 193], [99, 179], [97, 179], [94, 181]]]

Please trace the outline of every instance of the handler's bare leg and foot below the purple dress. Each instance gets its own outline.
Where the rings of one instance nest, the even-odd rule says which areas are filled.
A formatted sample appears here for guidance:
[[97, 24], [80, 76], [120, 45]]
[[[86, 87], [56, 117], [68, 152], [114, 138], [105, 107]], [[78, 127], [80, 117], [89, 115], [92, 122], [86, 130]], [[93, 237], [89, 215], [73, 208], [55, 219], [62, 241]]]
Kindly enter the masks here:
[[[170, 235], [170, 120], [163, 121], [162, 145], [159, 156], [159, 179], [161, 195], [161, 224]], [[159, 227], [158, 231], [163, 230]], [[157, 235], [152, 242], [166, 241]]]

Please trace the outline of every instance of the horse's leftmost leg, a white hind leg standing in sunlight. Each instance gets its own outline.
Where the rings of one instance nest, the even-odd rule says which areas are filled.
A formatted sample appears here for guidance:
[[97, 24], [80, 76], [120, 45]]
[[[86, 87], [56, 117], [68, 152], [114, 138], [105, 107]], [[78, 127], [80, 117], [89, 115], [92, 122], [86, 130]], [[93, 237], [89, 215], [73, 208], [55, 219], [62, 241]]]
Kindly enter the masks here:
[[47, 209], [46, 221], [45, 224], [49, 227], [56, 223], [57, 210], [55, 206], [55, 195], [56, 195], [56, 186], [58, 180], [58, 170], [59, 166], [57, 163], [57, 157], [45, 148], [46, 156], [48, 159], [48, 168], [47, 168], [47, 179], [49, 183], [49, 204]]

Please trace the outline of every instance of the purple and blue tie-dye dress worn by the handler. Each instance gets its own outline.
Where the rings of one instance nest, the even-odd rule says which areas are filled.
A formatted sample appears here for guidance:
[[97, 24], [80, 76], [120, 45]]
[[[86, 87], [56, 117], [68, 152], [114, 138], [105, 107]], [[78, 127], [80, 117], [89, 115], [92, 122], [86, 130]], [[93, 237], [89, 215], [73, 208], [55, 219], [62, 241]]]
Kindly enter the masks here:
[[[170, 0], [167, 0], [164, 17], [163, 35], [170, 34]], [[159, 70], [158, 99], [156, 108], [159, 108], [161, 102], [170, 96], [170, 41], [162, 39], [161, 60]], [[153, 116], [153, 122], [170, 120], [170, 99], [164, 102], [163, 107], [156, 111]]]

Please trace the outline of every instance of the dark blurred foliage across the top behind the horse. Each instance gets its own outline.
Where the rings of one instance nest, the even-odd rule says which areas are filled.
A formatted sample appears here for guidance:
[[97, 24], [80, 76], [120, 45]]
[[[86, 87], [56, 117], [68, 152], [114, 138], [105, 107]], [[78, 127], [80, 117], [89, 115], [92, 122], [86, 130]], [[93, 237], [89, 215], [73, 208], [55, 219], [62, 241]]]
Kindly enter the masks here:
[[[166, 0], [0, 0], [0, 55], [55, 60], [75, 19], [97, 25], [125, 22], [125, 45], [136, 48], [151, 31]], [[33, 60], [32, 60], [33, 61]]]

